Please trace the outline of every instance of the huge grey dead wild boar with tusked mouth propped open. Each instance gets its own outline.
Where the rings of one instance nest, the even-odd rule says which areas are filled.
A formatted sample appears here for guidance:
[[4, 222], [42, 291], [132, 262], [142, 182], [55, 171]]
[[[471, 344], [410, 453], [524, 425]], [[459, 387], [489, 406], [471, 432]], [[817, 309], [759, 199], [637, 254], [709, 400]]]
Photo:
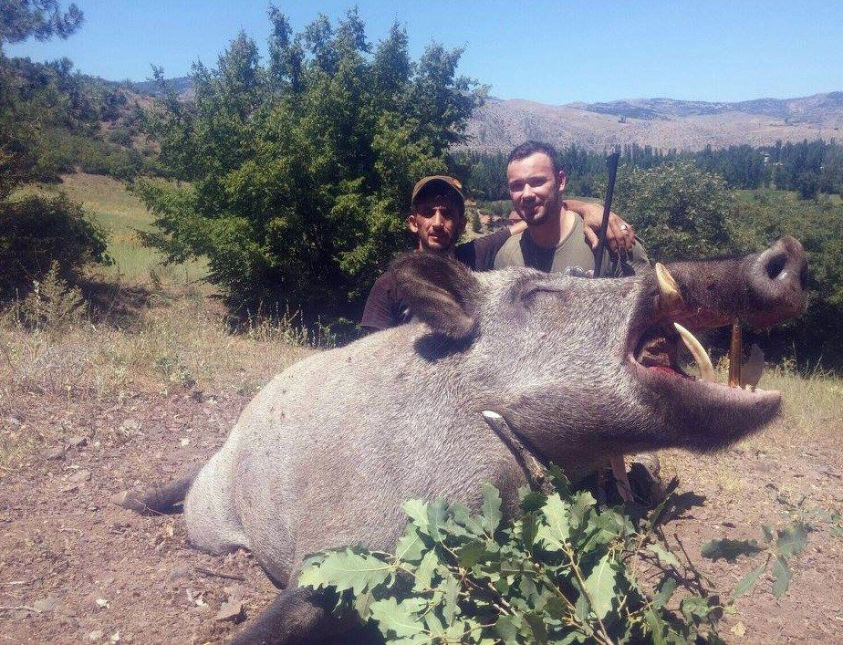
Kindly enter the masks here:
[[283, 590], [237, 642], [341, 628], [297, 588], [302, 558], [350, 543], [390, 548], [408, 498], [476, 507], [490, 482], [515, 511], [526, 473], [483, 411], [573, 479], [609, 455], [703, 451], [755, 432], [779, 411], [779, 393], [686, 375], [673, 323], [770, 327], [806, 300], [805, 255], [789, 237], [743, 259], [618, 280], [474, 274], [425, 253], [394, 268], [414, 322], [286, 369], [194, 479], [120, 499], [162, 511], [189, 488], [193, 546], [251, 549]]

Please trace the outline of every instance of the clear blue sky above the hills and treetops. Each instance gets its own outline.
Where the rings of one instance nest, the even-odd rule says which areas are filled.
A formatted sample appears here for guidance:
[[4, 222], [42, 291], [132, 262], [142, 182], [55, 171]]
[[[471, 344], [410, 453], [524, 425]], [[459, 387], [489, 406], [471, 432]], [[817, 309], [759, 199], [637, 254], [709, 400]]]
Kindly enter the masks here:
[[[241, 29], [265, 50], [269, 32], [265, 2], [77, 4], [86, 24], [75, 36], [5, 47], [7, 55], [67, 56], [88, 74], [143, 80], [151, 64], [169, 77], [186, 75], [195, 60], [215, 65]], [[370, 41], [397, 19], [408, 30], [413, 57], [432, 41], [465, 47], [461, 73], [503, 99], [786, 99], [843, 90], [843, 3], [834, 0], [357, 4]], [[344, 16], [353, 3], [276, 5], [299, 30], [319, 12]]]

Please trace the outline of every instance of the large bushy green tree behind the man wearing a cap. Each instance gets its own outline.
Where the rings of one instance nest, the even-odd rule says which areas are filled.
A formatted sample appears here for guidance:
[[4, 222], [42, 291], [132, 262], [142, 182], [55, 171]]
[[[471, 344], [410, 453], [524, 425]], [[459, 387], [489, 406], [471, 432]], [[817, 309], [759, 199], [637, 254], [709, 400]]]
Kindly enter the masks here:
[[431, 45], [414, 63], [397, 24], [373, 46], [357, 10], [295, 35], [275, 7], [269, 18], [265, 63], [241, 34], [215, 68], [194, 66], [192, 101], [161, 101], [150, 129], [191, 186], [139, 187], [157, 214], [148, 241], [173, 260], [207, 255], [235, 307], [356, 316], [406, 244], [413, 183], [446, 172], [482, 96], [456, 75], [460, 50]]

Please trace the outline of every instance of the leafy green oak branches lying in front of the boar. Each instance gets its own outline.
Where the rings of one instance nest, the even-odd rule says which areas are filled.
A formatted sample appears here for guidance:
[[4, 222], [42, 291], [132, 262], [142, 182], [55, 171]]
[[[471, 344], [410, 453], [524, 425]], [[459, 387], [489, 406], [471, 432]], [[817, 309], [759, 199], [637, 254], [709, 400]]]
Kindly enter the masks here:
[[661, 525], [692, 505], [692, 494], [675, 494], [675, 480], [644, 521], [598, 507], [557, 468], [551, 480], [552, 494], [521, 492], [523, 515], [512, 521], [488, 484], [477, 514], [441, 499], [410, 500], [393, 553], [323, 552], [307, 559], [299, 584], [337, 592], [338, 610], [353, 609], [394, 642], [722, 642], [724, 611], [768, 567], [780, 598], [806, 546], [800, 520], [776, 533], [765, 526], [764, 546], [707, 543], [704, 557], [765, 558], [730, 594], [718, 594], [662, 537]]

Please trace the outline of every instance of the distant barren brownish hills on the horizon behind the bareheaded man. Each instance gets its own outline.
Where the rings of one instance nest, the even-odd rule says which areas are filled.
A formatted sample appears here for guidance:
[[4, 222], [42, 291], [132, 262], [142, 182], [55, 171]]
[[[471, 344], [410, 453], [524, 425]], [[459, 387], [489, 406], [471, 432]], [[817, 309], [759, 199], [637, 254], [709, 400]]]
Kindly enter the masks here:
[[748, 143], [775, 144], [839, 137], [843, 92], [801, 99], [708, 103], [673, 99], [545, 105], [522, 99], [488, 99], [471, 120], [466, 148], [506, 151], [527, 139], [592, 150], [637, 143], [681, 151]]

